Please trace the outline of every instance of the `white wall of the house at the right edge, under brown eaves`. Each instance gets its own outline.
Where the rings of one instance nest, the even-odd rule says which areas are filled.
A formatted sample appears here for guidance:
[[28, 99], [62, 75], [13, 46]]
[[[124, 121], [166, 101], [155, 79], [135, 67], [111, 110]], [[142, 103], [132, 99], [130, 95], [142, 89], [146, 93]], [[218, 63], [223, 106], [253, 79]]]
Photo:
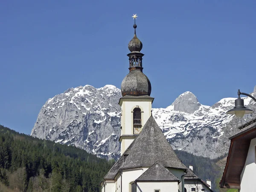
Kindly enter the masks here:
[[240, 192], [256, 192], [256, 138], [251, 140], [244, 169], [241, 173]]

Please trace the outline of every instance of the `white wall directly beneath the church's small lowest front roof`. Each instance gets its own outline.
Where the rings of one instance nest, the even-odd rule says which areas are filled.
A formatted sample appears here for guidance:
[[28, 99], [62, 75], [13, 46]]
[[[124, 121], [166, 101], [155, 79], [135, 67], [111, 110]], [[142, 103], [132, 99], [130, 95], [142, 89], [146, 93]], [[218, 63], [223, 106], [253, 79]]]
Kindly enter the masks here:
[[137, 192], [154, 192], [154, 189], [160, 189], [160, 192], [177, 192], [178, 182], [137, 182]]

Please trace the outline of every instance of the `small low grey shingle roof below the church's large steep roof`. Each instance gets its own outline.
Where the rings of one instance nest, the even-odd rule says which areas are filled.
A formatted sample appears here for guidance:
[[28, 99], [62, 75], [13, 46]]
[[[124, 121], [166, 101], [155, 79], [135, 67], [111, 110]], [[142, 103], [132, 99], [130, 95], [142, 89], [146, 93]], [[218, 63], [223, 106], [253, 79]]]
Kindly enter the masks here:
[[179, 179], [160, 163], [155, 163], [140, 175], [136, 181], [179, 181]]

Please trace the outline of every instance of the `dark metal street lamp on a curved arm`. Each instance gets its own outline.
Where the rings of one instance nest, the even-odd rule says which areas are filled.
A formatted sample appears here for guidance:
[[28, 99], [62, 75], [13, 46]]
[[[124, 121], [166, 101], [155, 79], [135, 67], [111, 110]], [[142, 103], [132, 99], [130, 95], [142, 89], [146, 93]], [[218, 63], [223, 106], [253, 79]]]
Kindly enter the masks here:
[[242, 118], [245, 114], [253, 113], [253, 110], [244, 107], [244, 99], [241, 99], [240, 95], [246, 95], [252, 98], [255, 102], [256, 98], [247, 93], [240, 92], [240, 89], [238, 90], [237, 94], [238, 98], [235, 100], [235, 107], [227, 111], [227, 114], [236, 115], [237, 117]]

